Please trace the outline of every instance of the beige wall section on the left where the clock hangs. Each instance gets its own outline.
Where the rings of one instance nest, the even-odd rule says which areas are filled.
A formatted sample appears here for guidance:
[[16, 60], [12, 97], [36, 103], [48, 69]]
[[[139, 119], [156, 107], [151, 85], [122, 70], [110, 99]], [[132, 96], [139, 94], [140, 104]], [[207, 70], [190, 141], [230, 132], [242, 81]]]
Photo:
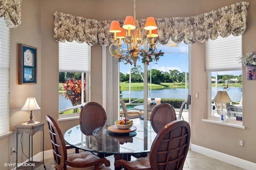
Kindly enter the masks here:
[[[15, 125], [29, 121], [30, 111], [21, 111], [27, 97], [36, 97], [40, 105], [41, 102], [41, 29], [40, 29], [40, 6], [39, 1], [24, 0], [22, 2], [22, 23], [18, 28], [11, 29], [11, 52], [10, 52], [10, 131], [14, 133], [10, 136], [0, 139], [0, 169], [7, 170], [10, 167], [4, 167], [4, 163], [15, 163], [16, 154], [11, 156], [11, 146], [16, 147], [16, 128]], [[37, 47], [37, 84], [36, 85], [18, 85], [18, 43]], [[33, 120], [40, 121], [40, 110], [33, 111]], [[18, 135], [20, 141], [21, 134]], [[41, 148], [40, 133], [33, 136], [34, 153], [38, 153]], [[24, 151], [28, 150], [28, 134], [22, 137]], [[20, 146], [20, 143], [19, 143]], [[26, 160], [22, 155], [21, 147], [18, 150], [19, 162]]]

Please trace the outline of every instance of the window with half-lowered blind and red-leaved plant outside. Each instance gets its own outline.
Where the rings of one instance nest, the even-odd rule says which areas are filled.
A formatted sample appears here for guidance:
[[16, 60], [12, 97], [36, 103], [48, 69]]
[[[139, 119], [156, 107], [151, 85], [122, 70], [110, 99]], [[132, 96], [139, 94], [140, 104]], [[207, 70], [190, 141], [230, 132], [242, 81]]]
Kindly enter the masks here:
[[89, 45], [59, 42], [59, 118], [78, 116], [88, 100], [89, 66]]

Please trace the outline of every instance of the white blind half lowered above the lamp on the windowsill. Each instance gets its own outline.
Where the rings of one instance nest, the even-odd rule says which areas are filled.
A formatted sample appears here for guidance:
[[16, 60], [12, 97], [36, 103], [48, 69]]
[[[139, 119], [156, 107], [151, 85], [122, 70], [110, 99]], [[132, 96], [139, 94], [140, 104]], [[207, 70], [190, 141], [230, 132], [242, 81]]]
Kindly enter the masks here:
[[206, 42], [206, 71], [241, 70], [242, 36], [218, 37]]

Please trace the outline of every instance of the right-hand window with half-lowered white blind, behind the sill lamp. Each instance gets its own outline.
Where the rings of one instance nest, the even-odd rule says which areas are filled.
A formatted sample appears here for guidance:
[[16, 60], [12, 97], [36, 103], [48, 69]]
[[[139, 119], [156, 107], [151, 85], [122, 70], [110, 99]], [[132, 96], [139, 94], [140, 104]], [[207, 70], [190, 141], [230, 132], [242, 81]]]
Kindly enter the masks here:
[[[220, 110], [227, 112], [229, 105], [241, 107], [242, 65], [238, 57], [242, 54], [242, 36], [227, 38], [220, 36], [206, 43], [206, 71], [208, 72], [208, 118], [220, 117]], [[217, 91], [227, 91], [232, 102], [213, 102]], [[228, 113], [229, 114], [229, 113]], [[242, 113], [241, 113], [242, 114]], [[241, 116], [241, 115], [240, 115]], [[228, 115], [230, 122], [236, 123], [234, 115]]]

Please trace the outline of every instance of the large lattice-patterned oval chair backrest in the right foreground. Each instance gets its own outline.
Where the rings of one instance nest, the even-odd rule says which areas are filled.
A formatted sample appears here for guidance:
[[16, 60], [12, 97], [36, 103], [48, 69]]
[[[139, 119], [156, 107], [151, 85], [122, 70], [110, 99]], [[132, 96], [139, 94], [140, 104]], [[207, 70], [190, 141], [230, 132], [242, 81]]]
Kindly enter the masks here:
[[162, 128], [150, 149], [153, 170], [182, 170], [190, 143], [190, 125], [183, 120], [173, 121]]

